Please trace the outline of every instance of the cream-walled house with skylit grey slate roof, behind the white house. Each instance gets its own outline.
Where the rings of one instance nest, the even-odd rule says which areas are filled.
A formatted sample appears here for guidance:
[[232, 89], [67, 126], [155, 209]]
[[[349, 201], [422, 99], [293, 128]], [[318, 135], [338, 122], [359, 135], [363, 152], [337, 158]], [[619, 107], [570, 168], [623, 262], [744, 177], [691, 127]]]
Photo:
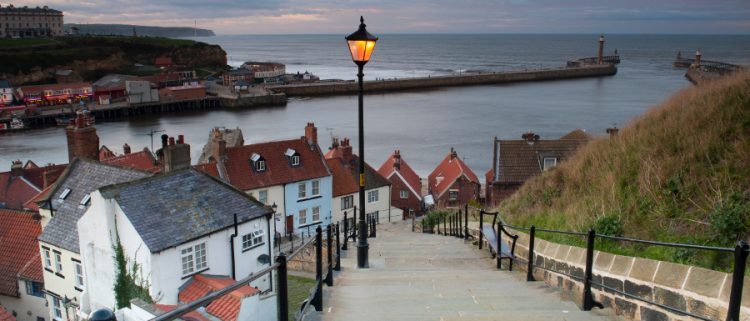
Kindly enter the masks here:
[[98, 188], [151, 176], [152, 173], [75, 158], [47, 197], [39, 200], [42, 233], [39, 249], [50, 319], [74, 320], [86, 289], [78, 242], [78, 220]]

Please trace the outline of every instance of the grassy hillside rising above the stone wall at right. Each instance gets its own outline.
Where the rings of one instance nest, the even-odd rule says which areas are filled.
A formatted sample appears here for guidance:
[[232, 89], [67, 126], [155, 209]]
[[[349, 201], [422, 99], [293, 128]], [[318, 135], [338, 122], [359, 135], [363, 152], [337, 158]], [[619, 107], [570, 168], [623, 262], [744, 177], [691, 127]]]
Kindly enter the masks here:
[[[635, 94], [635, 93], [634, 93]], [[750, 73], [683, 90], [528, 181], [501, 204], [520, 225], [733, 246], [750, 225]], [[546, 236], [545, 236], [546, 237]], [[580, 240], [563, 240], [580, 243]], [[725, 269], [731, 255], [603, 244]]]

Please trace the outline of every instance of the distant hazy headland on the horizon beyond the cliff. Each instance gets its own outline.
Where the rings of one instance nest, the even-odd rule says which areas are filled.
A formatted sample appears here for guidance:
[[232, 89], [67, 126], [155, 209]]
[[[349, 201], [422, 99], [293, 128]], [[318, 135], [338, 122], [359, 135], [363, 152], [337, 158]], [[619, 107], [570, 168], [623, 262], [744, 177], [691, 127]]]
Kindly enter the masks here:
[[79, 35], [107, 35], [107, 36], [148, 36], [148, 37], [212, 37], [214, 32], [209, 29], [193, 27], [156, 27], [136, 26], [123, 24], [76, 24], [66, 23], [65, 31], [68, 34]]

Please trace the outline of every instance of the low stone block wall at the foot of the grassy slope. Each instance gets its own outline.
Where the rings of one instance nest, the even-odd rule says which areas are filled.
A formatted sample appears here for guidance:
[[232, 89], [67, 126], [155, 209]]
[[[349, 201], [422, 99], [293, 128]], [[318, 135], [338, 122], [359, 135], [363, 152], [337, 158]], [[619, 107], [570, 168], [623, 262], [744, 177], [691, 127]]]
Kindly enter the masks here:
[[[470, 233], [478, 236], [476, 229], [472, 229]], [[527, 259], [529, 236], [521, 232], [518, 235], [516, 256]], [[484, 242], [486, 245], [486, 240]], [[580, 307], [583, 298], [583, 283], [580, 280], [583, 279], [586, 267], [586, 249], [548, 242], [539, 237], [534, 240], [534, 248], [535, 266], [562, 272], [535, 268], [535, 279], [559, 288], [564, 297], [575, 301]], [[520, 261], [513, 265], [514, 270], [520, 271], [526, 271], [526, 267], [526, 263]], [[572, 275], [573, 278], [564, 274]], [[662, 305], [713, 320], [725, 320], [732, 275], [695, 266], [595, 251], [593, 281]], [[593, 285], [592, 292], [596, 301], [630, 320], [697, 320], [600, 286]], [[744, 281], [740, 320], [750, 320], [748, 278]]]

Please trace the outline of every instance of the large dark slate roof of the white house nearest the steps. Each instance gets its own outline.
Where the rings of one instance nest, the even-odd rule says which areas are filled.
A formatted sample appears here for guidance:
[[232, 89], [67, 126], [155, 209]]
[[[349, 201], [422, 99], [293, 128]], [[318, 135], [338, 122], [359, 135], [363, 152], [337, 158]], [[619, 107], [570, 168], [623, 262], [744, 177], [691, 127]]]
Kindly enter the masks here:
[[193, 169], [106, 186], [100, 192], [117, 201], [151, 253], [229, 228], [234, 213], [239, 223], [273, 213], [242, 191]]

